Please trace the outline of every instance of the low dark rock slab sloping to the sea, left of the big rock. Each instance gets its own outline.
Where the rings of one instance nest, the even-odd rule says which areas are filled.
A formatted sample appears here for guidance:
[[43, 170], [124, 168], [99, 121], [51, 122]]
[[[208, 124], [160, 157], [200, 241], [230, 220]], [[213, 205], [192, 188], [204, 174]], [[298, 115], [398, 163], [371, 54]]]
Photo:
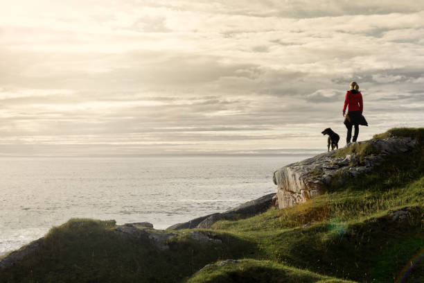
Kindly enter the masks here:
[[166, 230], [180, 230], [180, 229], [192, 229], [192, 228], [202, 228], [207, 229], [210, 228], [213, 223], [222, 219], [231, 219], [234, 216], [251, 216], [255, 214], [259, 214], [261, 212], [265, 212], [272, 206], [272, 198], [275, 194], [267, 194], [266, 196], [262, 196], [257, 198], [256, 200], [250, 200], [247, 203], [243, 203], [238, 207], [227, 210], [227, 212], [209, 214], [207, 216], [195, 218], [186, 223], [179, 223], [172, 225]]

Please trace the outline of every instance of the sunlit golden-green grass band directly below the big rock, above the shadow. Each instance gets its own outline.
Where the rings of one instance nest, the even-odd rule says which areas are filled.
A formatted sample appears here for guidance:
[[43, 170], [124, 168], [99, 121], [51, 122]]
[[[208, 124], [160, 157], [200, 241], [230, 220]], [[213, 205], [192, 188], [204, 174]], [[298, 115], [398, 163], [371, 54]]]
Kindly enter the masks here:
[[424, 150], [392, 155], [378, 169], [362, 178], [335, 184], [327, 194], [307, 203], [240, 221], [219, 221], [218, 230], [269, 230], [294, 228], [310, 221], [339, 218], [343, 221], [386, 211], [391, 207], [414, 205], [424, 200]]

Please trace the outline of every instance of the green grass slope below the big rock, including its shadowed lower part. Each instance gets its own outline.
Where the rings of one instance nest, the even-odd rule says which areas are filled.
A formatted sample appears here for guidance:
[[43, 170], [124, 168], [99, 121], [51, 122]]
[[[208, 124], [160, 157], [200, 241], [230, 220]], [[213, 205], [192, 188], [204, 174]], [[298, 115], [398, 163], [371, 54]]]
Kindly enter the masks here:
[[[392, 155], [362, 178], [335, 184], [327, 194], [295, 207], [269, 210], [216, 230], [249, 234], [263, 257], [359, 282], [394, 282], [424, 248], [424, 150]], [[405, 227], [387, 221], [389, 209], [414, 207]], [[302, 225], [312, 223], [309, 228]], [[406, 282], [424, 281], [424, 262]]]

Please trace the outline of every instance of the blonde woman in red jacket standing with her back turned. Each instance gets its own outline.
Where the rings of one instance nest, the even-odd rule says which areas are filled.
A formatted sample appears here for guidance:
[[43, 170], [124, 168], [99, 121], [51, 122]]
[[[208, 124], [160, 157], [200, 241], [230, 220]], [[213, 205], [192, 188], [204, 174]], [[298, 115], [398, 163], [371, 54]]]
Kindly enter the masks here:
[[[346, 114], [346, 108], [348, 108], [348, 114]], [[344, 105], [343, 105], [343, 117], [344, 125], [346, 126], [348, 132], [346, 136], [346, 144], [351, 142], [352, 137], [352, 126], [355, 126], [355, 134], [353, 135], [352, 141], [355, 142], [357, 135], [359, 135], [359, 126], [368, 126], [365, 118], [362, 116], [362, 111], [364, 111], [364, 102], [362, 101], [362, 94], [359, 91], [359, 85], [357, 83], [351, 83], [351, 90], [346, 92], [344, 96]]]

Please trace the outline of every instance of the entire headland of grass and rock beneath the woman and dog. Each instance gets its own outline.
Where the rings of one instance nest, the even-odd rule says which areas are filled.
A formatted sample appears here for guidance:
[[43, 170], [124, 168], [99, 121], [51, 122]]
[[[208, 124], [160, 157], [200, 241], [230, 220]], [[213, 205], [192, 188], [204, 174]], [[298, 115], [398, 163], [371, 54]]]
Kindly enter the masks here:
[[330, 192], [301, 209], [268, 209], [270, 194], [173, 231], [71, 219], [0, 257], [0, 283], [424, 282], [424, 262], [410, 264], [424, 246], [424, 128], [376, 137], [276, 171], [281, 207]]

